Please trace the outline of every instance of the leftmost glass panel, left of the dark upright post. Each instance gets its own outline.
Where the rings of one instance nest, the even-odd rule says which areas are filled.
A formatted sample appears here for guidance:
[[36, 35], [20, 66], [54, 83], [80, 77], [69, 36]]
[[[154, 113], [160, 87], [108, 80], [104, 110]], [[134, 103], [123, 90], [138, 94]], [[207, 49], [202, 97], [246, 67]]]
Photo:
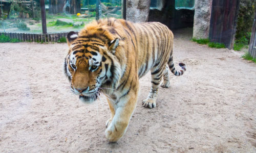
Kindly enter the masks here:
[[42, 33], [39, 0], [1, 0], [0, 5], [1, 32]]

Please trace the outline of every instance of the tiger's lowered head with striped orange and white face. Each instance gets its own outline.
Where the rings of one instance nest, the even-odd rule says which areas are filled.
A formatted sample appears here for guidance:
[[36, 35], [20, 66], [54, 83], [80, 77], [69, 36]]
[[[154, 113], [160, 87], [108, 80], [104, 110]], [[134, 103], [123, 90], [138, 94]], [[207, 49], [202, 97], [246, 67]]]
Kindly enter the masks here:
[[112, 38], [102, 28], [90, 27], [79, 34], [67, 35], [69, 53], [64, 71], [70, 89], [85, 103], [92, 103], [99, 92], [110, 94], [120, 80], [120, 64], [115, 56], [118, 38]]

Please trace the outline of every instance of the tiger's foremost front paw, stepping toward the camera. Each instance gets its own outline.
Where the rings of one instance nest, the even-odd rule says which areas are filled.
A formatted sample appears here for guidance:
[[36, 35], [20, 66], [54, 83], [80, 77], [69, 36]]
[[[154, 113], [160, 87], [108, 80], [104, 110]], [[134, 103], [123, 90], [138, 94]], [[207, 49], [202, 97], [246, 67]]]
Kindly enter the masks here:
[[123, 131], [118, 129], [119, 128], [114, 125], [113, 122], [111, 122], [105, 131], [106, 139], [108, 139], [110, 142], [116, 142], [119, 140], [123, 135]]

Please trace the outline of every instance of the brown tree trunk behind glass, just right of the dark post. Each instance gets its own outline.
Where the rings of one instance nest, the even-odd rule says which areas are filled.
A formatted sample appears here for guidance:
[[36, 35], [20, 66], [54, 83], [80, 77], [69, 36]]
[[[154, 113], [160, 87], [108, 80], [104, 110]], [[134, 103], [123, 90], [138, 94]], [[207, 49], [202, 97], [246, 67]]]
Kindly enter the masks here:
[[49, 14], [57, 14], [63, 12], [65, 0], [49, 0]]

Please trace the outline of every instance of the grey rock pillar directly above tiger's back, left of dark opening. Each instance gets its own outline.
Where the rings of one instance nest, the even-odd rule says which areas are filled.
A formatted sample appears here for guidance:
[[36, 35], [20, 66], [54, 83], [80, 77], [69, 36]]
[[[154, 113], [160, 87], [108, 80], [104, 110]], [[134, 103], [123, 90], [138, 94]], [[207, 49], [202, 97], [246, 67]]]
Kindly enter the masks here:
[[146, 22], [150, 13], [150, 1], [148, 0], [127, 0], [126, 20], [132, 22]]

